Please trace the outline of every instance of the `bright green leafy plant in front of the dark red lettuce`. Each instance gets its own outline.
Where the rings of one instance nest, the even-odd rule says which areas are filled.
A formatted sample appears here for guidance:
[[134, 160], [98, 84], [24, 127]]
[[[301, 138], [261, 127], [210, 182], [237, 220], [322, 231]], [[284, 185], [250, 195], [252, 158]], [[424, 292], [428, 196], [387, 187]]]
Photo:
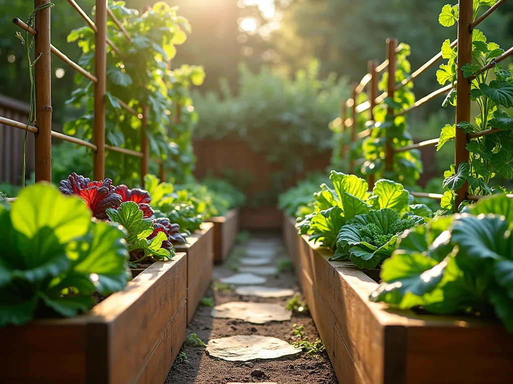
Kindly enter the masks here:
[[143, 219], [143, 211], [133, 201], [121, 203], [119, 208], [107, 208], [107, 215], [116, 223], [120, 223], [128, 232], [127, 243], [129, 252], [137, 253], [137, 259], [133, 263], [152, 258], [153, 260], [171, 260], [174, 256], [174, 248], [171, 251], [161, 248], [167, 241], [164, 232], [157, 232], [155, 237], [148, 239], [153, 233], [153, 220]]

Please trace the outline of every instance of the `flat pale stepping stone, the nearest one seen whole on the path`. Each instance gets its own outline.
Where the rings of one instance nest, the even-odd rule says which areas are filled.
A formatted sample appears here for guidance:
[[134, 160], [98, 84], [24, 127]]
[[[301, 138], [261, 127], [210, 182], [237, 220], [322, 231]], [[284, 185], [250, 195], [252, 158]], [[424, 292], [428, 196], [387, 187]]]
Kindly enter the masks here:
[[210, 340], [207, 352], [210, 356], [223, 360], [249, 361], [293, 356], [301, 353], [302, 350], [275, 337], [239, 335]]

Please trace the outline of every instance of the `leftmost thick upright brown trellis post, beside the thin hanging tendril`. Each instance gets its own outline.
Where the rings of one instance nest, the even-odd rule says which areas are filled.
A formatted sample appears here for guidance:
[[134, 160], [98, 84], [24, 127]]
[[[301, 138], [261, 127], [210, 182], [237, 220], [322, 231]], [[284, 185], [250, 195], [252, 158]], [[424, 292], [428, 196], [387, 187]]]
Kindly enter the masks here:
[[[34, 0], [34, 8], [50, 3]], [[35, 181], [52, 181], [52, 67], [50, 56], [50, 7], [36, 12], [35, 38], [35, 109], [37, 129], [35, 135]], [[25, 177], [25, 175], [23, 175]]]

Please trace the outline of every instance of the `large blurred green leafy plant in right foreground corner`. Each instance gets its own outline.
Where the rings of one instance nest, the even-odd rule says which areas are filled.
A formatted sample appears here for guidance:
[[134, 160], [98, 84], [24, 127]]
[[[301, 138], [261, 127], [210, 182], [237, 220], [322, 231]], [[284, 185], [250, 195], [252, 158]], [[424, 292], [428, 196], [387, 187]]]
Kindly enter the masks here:
[[496, 195], [406, 231], [370, 300], [497, 315], [513, 332], [513, 201]]

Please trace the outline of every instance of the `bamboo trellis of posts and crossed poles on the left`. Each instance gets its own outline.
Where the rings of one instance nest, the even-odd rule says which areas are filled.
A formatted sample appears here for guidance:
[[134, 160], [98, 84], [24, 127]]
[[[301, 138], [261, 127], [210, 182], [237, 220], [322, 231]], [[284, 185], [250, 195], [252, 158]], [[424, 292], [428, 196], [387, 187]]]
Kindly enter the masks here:
[[[149, 172], [150, 150], [148, 139], [145, 134], [147, 107], [143, 106], [140, 111], [131, 108], [121, 99], [117, 99], [122, 108], [142, 120], [141, 151], [132, 151], [127, 148], [107, 145], [105, 143], [105, 109], [106, 109], [106, 73], [107, 73], [107, 46], [121, 59], [124, 59], [122, 51], [116, 47], [107, 37], [107, 18], [110, 17], [117, 28], [125, 35], [127, 44], [130, 44], [131, 37], [122, 23], [115, 17], [108, 8], [107, 0], [96, 0], [95, 21], [87, 15], [84, 10], [74, 1], [67, 0], [76, 12], [85, 20], [87, 25], [95, 33], [95, 56], [94, 75], [86, 71], [77, 63], [70, 60], [64, 53], [54, 47], [50, 42], [50, 7], [40, 9], [35, 14], [34, 28], [28, 26], [23, 20], [14, 18], [13, 23], [25, 31], [28, 31], [35, 38], [35, 55], [38, 57], [34, 65], [35, 82], [35, 109], [37, 120], [34, 122], [22, 122], [24, 116], [10, 116], [0, 110], [0, 126], [8, 125], [20, 130], [27, 130], [34, 135], [34, 158], [35, 158], [35, 181], [51, 182], [51, 141], [52, 138], [61, 139], [74, 144], [83, 145], [93, 151], [93, 178], [102, 180], [105, 178], [105, 151], [115, 151], [141, 158], [141, 178]], [[34, 9], [50, 4], [50, 0], [34, 0]], [[64, 135], [52, 131], [52, 103], [51, 103], [51, 54], [64, 61], [76, 72], [88, 78], [94, 83], [94, 131], [92, 141], [86, 141], [73, 136]], [[180, 109], [180, 105], [177, 105]], [[27, 120], [25, 120], [27, 121]], [[2, 138], [2, 136], [0, 136]], [[32, 139], [31, 139], [32, 140]], [[30, 141], [29, 141], [30, 142]], [[28, 147], [28, 150], [31, 148]], [[27, 151], [29, 152], [29, 151]], [[29, 155], [31, 156], [31, 155]], [[161, 159], [153, 160], [159, 163], [160, 178], [165, 180], [164, 163]], [[10, 172], [13, 172], [11, 170]], [[21, 174], [21, 171], [20, 171]]]

